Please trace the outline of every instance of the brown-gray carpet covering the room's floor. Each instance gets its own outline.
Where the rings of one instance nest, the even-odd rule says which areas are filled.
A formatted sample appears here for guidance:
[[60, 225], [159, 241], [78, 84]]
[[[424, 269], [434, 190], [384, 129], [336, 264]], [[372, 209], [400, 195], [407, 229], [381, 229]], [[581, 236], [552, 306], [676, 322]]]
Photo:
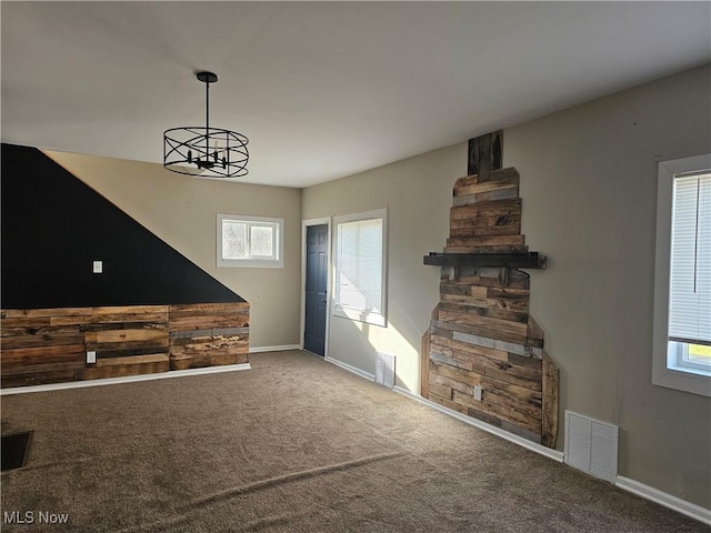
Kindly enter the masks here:
[[2, 531], [711, 532], [314, 355], [251, 363], [3, 396], [34, 434]]

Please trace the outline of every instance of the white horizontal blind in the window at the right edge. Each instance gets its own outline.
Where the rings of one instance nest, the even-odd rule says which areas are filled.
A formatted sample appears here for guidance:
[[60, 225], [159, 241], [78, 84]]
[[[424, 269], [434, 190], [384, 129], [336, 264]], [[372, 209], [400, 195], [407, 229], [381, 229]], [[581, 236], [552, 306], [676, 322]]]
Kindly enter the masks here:
[[711, 173], [674, 178], [669, 340], [711, 345]]

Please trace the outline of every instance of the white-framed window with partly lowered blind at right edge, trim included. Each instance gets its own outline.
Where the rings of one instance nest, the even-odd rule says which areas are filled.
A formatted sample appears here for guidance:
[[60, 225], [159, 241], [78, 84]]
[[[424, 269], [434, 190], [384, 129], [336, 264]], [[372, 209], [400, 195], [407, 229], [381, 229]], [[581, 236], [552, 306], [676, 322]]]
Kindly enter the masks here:
[[711, 396], [711, 155], [659, 164], [654, 384]]

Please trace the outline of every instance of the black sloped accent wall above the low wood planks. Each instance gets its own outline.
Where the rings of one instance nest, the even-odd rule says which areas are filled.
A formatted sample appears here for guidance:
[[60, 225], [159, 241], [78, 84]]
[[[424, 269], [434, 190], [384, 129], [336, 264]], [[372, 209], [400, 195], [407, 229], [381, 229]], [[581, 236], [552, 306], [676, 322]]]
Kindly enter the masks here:
[[1, 194], [3, 309], [244, 301], [34, 148], [2, 144]]

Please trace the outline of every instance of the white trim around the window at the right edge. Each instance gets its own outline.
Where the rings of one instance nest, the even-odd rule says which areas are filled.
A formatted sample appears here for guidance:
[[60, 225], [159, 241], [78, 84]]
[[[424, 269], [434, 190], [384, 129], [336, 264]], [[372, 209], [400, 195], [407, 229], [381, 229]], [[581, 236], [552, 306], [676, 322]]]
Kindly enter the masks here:
[[657, 250], [654, 269], [654, 322], [652, 383], [711, 396], [711, 373], [679, 364], [679, 350], [668, 340], [669, 271], [674, 174], [711, 169], [711, 154], [659, 162], [657, 189]]

